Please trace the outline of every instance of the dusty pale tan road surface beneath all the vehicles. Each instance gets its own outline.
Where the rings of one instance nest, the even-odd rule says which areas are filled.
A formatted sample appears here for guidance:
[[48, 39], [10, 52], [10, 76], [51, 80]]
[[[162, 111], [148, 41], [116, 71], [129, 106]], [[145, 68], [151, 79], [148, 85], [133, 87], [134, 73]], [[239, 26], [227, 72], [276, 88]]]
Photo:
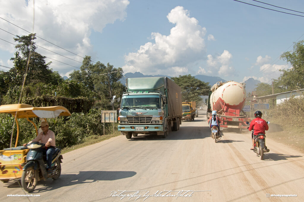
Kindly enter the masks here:
[[304, 201], [303, 153], [267, 139], [260, 160], [249, 131], [214, 143], [199, 112], [166, 139], [117, 136], [65, 153], [60, 178], [30, 193], [40, 197], [8, 197], [24, 194], [12, 180], [0, 201]]

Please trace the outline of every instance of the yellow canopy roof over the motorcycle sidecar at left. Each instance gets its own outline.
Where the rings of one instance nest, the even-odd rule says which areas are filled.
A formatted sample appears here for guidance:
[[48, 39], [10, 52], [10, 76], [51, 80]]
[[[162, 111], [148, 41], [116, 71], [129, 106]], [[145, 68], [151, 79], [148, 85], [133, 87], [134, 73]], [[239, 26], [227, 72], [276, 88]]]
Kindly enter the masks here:
[[57, 116], [71, 116], [67, 108], [63, 106], [33, 107], [27, 104], [1, 105], [0, 113], [10, 113], [17, 118], [55, 118]]

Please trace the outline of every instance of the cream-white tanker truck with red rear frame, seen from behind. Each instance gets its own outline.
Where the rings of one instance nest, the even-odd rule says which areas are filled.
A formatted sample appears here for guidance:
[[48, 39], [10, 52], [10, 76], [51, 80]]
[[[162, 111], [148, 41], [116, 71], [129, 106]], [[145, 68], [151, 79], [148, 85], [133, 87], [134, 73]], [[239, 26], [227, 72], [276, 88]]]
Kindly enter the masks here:
[[250, 118], [242, 110], [245, 105], [245, 83], [235, 81], [217, 82], [209, 91], [207, 118], [216, 110], [222, 121], [220, 127], [247, 129]]

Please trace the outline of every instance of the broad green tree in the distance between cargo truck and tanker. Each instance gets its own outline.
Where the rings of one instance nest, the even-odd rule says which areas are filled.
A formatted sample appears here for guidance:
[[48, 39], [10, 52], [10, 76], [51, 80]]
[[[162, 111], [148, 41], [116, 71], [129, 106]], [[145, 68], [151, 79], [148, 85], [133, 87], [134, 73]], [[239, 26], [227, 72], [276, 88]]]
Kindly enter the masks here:
[[209, 82], [203, 82], [199, 79], [195, 79], [191, 74], [178, 77], [171, 77], [171, 79], [178, 86], [181, 87], [181, 97], [182, 101], [202, 101], [200, 96], [207, 96], [211, 86]]

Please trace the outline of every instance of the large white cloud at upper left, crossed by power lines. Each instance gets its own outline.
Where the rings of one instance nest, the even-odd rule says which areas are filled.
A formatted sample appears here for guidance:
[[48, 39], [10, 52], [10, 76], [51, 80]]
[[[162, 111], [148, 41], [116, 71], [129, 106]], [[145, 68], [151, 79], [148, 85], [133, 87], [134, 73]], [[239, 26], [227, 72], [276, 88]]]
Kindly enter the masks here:
[[[126, 18], [128, 0], [40, 0], [35, 1], [34, 33], [64, 49], [77, 55], [94, 55], [90, 42], [91, 31], [102, 32], [106, 24], [116, 20], [123, 21]], [[23, 29], [32, 32], [33, 28], [33, 1], [10, 0], [2, 1], [0, 16]], [[28, 35], [29, 33], [0, 19], [0, 27], [14, 35]], [[2, 39], [14, 43], [13, 35], [2, 31]], [[37, 37], [35, 40], [40, 45], [53, 52], [67, 56], [82, 62], [82, 58], [60, 49]], [[14, 45], [0, 43], [0, 49], [15, 52]], [[56, 62], [59, 60], [73, 66], [81, 66], [81, 63], [64, 58], [45, 49], [37, 48], [37, 51], [52, 59], [51, 68], [54, 71], [69, 72], [75, 67]], [[64, 70], [65, 69], [65, 70]]]

